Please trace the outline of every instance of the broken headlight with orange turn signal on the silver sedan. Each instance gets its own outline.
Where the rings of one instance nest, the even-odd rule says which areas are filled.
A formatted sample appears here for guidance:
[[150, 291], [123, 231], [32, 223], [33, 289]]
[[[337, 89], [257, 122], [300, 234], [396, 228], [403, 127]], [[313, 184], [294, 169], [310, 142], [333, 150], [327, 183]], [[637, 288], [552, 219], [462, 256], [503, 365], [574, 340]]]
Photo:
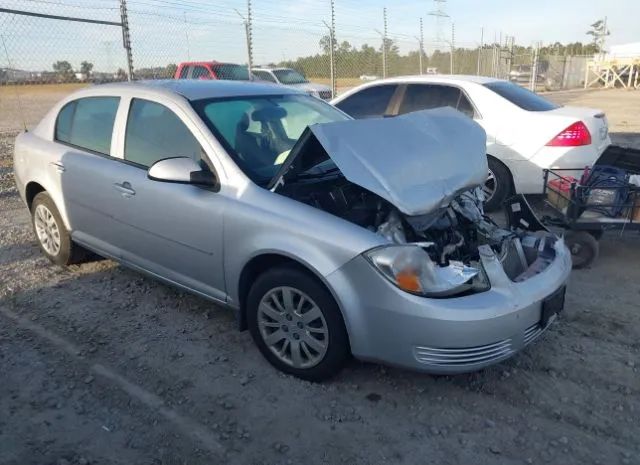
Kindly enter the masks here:
[[438, 266], [417, 245], [389, 245], [365, 253], [382, 275], [400, 289], [425, 297], [447, 297], [488, 289], [480, 268], [451, 261]]

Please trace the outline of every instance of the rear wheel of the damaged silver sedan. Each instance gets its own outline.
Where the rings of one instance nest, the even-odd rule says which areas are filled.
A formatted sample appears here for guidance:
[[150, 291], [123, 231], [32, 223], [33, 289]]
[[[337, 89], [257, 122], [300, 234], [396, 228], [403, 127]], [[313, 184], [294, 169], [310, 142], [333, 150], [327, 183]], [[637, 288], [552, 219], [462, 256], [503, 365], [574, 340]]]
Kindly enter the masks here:
[[71, 240], [56, 204], [47, 192], [40, 192], [31, 203], [31, 225], [40, 250], [60, 266], [80, 263], [87, 252]]

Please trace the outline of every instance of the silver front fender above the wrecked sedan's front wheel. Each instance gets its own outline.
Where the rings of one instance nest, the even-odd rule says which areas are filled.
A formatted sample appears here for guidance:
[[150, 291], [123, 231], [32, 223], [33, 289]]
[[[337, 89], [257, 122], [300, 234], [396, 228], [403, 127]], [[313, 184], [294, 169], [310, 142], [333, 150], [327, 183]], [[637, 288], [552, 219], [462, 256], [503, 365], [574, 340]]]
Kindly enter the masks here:
[[[261, 191], [261, 192], [260, 192]], [[318, 277], [386, 239], [327, 212], [251, 186], [242, 200], [229, 199], [224, 218], [224, 270], [228, 300], [240, 302], [240, 276], [260, 255], [280, 255]]]

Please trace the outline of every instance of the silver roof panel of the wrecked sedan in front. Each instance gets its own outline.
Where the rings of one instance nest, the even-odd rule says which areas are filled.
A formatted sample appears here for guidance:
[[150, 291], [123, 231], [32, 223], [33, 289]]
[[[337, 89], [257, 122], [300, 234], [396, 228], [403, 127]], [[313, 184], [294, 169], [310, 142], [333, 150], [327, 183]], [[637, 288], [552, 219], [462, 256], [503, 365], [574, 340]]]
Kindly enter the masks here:
[[200, 100], [219, 97], [242, 97], [253, 95], [298, 94], [300, 91], [266, 82], [196, 80], [196, 79], [164, 79], [153, 81], [133, 81], [113, 84], [98, 84], [87, 88], [91, 90], [114, 92], [131, 92], [135, 89], [157, 92], [158, 95], [178, 94], [187, 100]]

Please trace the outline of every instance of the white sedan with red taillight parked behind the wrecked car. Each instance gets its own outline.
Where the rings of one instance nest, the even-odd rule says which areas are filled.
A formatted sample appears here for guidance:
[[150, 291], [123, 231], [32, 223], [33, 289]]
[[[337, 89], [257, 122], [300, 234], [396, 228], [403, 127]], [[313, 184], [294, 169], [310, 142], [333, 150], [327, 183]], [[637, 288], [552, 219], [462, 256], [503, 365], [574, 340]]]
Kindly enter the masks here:
[[357, 119], [450, 106], [476, 120], [487, 133], [488, 210], [514, 192], [542, 193], [543, 169], [592, 165], [611, 143], [601, 110], [562, 107], [501, 79], [395, 77], [363, 84], [331, 103]]

